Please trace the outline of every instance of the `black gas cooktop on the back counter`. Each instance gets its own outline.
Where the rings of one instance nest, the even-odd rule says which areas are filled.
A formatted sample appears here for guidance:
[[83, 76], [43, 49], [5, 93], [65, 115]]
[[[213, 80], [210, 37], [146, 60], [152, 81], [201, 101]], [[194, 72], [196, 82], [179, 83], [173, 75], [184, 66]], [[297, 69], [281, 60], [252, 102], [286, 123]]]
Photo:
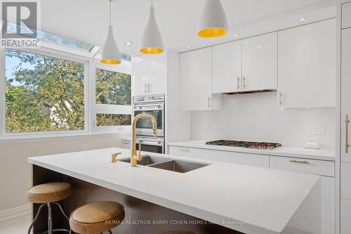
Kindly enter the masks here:
[[253, 148], [253, 149], [268, 149], [272, 150], [279, 146], [282, 146], [280, 143], [267, 143], [267, 142], [251, 142], [251, 141], [208, 141], [206, 145], [225, 145], [232, 147], [242, 147], [242, 148]]

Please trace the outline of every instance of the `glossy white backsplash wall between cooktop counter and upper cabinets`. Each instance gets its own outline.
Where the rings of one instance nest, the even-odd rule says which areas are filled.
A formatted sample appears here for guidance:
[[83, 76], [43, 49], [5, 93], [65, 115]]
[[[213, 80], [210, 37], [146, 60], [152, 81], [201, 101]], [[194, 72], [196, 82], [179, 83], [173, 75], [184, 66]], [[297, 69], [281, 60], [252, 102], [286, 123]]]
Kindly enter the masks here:
[[[315, 124], [326, 126], [324, 136], [313, 135]], [[296, 147], [306, 141], [317, 141], [322, 148], [334, 148], [335, 110], [281, 110], [277, 107], [276, 92], [225, 95], [222, 110], [191, 113], [191, 138], [268, 141]]]

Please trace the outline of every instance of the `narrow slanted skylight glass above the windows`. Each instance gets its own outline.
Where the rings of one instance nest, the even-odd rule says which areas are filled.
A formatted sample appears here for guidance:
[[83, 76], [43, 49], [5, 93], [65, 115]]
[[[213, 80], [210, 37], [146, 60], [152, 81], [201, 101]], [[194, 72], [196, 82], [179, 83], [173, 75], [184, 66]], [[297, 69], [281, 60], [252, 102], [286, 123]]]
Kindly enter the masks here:
[[[16, 25], [13, 22], [8, 23], [7, 30], [9, 32], [16, 32], [16, 27], [21, 27], [22, 32], [31, 32], [31, 30], [28, 27], [24, 27], [22, 25]], [[44, 31], [40, 31], [40, 30], [37, 30], [37, 37], [38, 37], [38, 39], [41, 39], [43, 41], [47, 41], [47, 42], [50, 42], [53, 44], [60, 44], [62, 46], [69, 46], [70, 48], [75, 48], [75, 49], [79, 49], [79, 50], [86, 51], [86, 52], [90, 52], [94, 48], [94, 45], [92, 45], [92, 44], [88, 44], [88, 43], [85, 43], [83, 41], [70, 39], [67, 37], [61, 37], [61, 36], [51, 34], [48, 32], [44, 32]]]

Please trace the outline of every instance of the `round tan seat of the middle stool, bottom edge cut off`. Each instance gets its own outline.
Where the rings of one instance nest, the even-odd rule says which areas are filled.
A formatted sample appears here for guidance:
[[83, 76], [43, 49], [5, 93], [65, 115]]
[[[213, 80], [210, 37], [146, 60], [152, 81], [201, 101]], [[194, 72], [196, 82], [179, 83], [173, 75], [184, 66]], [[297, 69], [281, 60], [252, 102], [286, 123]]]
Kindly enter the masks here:
[[75, 233], [96, 234], [109, 232], [124, 220], [124, 206], [118, 202], [93, 202], [75, 209], [69, 225]]

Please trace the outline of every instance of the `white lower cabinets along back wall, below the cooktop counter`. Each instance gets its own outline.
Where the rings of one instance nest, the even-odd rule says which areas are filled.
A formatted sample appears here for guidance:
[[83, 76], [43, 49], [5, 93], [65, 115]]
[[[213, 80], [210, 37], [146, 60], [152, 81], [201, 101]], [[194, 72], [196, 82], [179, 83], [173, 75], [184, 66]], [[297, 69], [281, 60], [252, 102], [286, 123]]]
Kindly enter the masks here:
[[[219, 162], [232, 162], [256, 167], [296, 171], [305, 174], [315, 174], [322, 178], [322, 234], [335, 233], [334, 220], [334, 189], [335, 189], [335, 163], [324, 160], [310, 160], [295, 157], [279, 157], [258, 155], [244, 152], [223, 150], [207, 150], [200, 148], [168, 146], [170, 155], [194, 157]], [[351, 163], [341, 166], [341, 234], [351, 233]]]

